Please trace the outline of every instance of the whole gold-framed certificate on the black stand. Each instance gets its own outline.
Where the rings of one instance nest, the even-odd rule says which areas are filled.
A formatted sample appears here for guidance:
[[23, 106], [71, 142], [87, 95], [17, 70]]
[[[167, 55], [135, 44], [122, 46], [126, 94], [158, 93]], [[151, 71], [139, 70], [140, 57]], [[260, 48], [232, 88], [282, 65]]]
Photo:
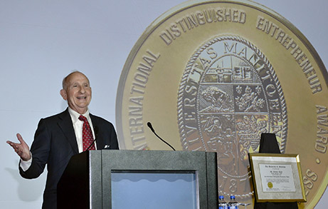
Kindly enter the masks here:
[[297, 154], [249, 153], [257, 201], [306, 202]]

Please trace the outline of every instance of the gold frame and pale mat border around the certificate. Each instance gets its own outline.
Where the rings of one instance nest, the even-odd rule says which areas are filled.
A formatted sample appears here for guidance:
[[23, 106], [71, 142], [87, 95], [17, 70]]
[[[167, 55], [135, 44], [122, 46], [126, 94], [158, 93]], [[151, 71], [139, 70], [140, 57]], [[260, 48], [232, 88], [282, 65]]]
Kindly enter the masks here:
[[[270, 154], [270, 153], [249, 153], [250, 168], [254, 192], [258, 203], [262, 202], [306, 202], [305, 189], [302, 182], [302, 170], [300, 157], [298, 154]], [[260, 176], [260, 163], [265, 164], [285, 164], [290, 165], [293, 173], [295, 192], [264, 192]], [[298, 174], [298, 175], [297, 175]]]

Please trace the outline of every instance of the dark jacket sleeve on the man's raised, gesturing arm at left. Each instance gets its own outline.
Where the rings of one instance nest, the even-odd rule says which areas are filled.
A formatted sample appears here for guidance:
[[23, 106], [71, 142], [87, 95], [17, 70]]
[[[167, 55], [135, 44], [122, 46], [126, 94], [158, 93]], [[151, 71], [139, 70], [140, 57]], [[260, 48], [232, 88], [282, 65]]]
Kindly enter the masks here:
[[49, 152], [51, 149], [51, 137], [48, 127], [43, 119], [38, 123], [38, 128], [34, 135], [34, 141], [31, 146], [32, 163], [28, 170], [23, 171], [19, 166], [19, 173], [23, 178], [38, 178], [46, 166]]

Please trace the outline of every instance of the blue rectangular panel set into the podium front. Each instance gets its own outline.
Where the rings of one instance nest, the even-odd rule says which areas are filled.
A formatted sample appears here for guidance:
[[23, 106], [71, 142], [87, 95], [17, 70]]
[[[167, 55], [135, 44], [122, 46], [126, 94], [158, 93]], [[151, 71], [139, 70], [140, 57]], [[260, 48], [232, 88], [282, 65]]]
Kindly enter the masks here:
[[112, 208], [199, 208], [196, 171], [112, 170]]

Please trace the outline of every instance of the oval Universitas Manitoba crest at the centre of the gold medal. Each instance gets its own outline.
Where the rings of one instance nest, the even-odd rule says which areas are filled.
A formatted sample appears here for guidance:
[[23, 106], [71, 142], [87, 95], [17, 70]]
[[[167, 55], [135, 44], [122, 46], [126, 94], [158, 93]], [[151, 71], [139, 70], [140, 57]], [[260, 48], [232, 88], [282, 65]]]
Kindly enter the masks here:
[[250, 188], [248, 193], [237, 188], [250, 175], [248, 153], [258, 151], [261, 133], [275, 133], [285, 151], [287, 111], [278, 78], [268, 58], [239, 36], [213, 38], [191, 56], [178, 112], [184, 113], [178, 115], [184, 150], [218, 153], [224, 195], [251, 197]]

